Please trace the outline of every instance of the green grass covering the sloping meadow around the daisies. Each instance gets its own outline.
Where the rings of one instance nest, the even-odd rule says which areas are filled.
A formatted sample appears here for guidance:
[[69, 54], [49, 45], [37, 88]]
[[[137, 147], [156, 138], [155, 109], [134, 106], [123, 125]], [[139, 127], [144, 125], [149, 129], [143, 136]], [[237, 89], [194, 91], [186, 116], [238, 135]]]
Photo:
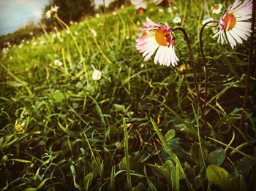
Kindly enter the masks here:
[[[198, 34], [206, 12], [200, 1], [175, 3], [171, 13], [151, 5], [141, 16], [127, 7], [106, 20], [88, 18], [70, 27], [75, 42], [65, 29], [1, 53], [2, 190], [217, 190], [230, 181], [240, 182], [238, 190], [256, 186], [254, 84], [244, 129], [238, 128], [249, 42], [232, 50], [211, 37], [214, 28], [204, 31], [207, 126], [182, 34], [175, 34], [176, 69], [152, 59], [144, 63], [135, 50], [146, 16], [175, 26], [179, 14], [203, 93]], [[56, 59], [63, 65], [54, 65]], [[91, 79], [91, 64], [102, 71], [99, 81]], [[231, 180], [214, 184], [219, 174]]]

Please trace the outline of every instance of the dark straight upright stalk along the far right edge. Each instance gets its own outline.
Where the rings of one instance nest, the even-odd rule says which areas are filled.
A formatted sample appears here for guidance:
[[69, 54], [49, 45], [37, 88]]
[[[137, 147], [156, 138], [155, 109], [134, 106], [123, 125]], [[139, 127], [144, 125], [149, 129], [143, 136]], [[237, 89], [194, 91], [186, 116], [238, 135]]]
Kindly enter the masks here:
[[[246, 87], [245, 87], [245, 92], [244, 92], [244, 102], [243, 102], [243, 109], [246, 109], [247, 105], [247, 99], [249, 96], [249, 82], [250, 82], [250, 77], [251, 77], [251, 70], [252, 70], [252, 56], [253, 56], [253, 36], [255, 34], [255, 9], [256, 9], [256, 0], [253, 0], [252, 2], [252, 25], [251, 25], [251, 39], [249, 43], [249, 53], [248, 53], [248, 64], [247, 64], [247, 71], [246, 71]], [[241, 114], [241, 120], [239, 124], [239, 128], [241, 129], [244, 125], [244, 117], [245, 117], [245, 112], [242, 112]]]

